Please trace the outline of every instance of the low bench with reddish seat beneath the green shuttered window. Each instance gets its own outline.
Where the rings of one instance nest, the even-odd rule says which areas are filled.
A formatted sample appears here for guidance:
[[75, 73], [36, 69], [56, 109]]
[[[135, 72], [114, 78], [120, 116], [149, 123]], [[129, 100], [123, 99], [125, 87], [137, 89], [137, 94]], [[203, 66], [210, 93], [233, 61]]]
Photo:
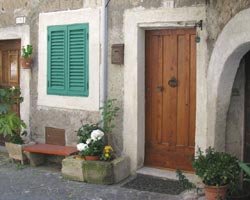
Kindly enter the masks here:
[[76, 147], [54, 144], [35, 144], [23, 148], [24, 153], [32, 166], [44, 163], [44, 154], [57, 156], [70, 156], [77, 153]]

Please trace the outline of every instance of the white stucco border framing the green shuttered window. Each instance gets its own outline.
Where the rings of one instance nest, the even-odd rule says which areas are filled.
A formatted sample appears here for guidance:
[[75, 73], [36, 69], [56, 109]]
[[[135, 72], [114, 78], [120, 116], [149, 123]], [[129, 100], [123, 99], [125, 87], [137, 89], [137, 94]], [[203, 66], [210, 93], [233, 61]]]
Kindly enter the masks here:
[[[47, 27], [52, 25], [89, 23], [89, 96], [47, 95]], [[99, 110], [100, 76], [100, 9], [80, 9], [41, 13], [39, 15], [38, 106]]]

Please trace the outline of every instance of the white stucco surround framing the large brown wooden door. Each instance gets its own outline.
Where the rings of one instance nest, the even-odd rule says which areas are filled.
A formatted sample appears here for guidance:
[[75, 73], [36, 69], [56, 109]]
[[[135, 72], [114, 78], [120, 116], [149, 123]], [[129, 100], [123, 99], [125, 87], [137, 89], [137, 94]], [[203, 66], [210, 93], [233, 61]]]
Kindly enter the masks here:
[[[205, 7], [127, 10], [124, 15], [124, 153], [131, 159], [131, 169], [143, 166], [145, 143], [145, 30], [187, 27], [205, 21]], [[205, 29], [205, 28], [204, 28]], [[200, 32], [197, 44], [196, 146], [206, 146], [206, 66], [207, 32]]]

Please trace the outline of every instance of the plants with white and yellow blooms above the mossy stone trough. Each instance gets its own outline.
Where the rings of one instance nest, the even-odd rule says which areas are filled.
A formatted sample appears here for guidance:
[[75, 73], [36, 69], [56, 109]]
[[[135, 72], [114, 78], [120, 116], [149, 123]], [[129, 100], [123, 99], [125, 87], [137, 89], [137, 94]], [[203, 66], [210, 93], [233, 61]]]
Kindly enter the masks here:
[[[95, 124], [85, 124], [78, 129], [79, 141], [77, 149], [79, 155], [85, 159], [110, 161], [114, 159], [113, 148], [110, 144], [110, 134], [115, 127], [113, 120], [119, 108], [114, 106], [115, 99], [108, 99], [100, 108], [102, 120]], [[107, 140], [105, 140], [105, 136]], [[90, 157], [91, 156], [91, 157]]]

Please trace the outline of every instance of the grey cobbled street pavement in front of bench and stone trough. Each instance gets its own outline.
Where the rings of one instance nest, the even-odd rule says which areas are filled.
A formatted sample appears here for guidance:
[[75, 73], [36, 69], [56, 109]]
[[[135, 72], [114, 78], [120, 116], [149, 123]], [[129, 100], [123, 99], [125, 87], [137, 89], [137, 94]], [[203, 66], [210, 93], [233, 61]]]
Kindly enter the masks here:
[[178, 200], [172, 196], [121, 187], [74, 182], [59, 170], [11, 163], [0, 153], [0, 200]]

